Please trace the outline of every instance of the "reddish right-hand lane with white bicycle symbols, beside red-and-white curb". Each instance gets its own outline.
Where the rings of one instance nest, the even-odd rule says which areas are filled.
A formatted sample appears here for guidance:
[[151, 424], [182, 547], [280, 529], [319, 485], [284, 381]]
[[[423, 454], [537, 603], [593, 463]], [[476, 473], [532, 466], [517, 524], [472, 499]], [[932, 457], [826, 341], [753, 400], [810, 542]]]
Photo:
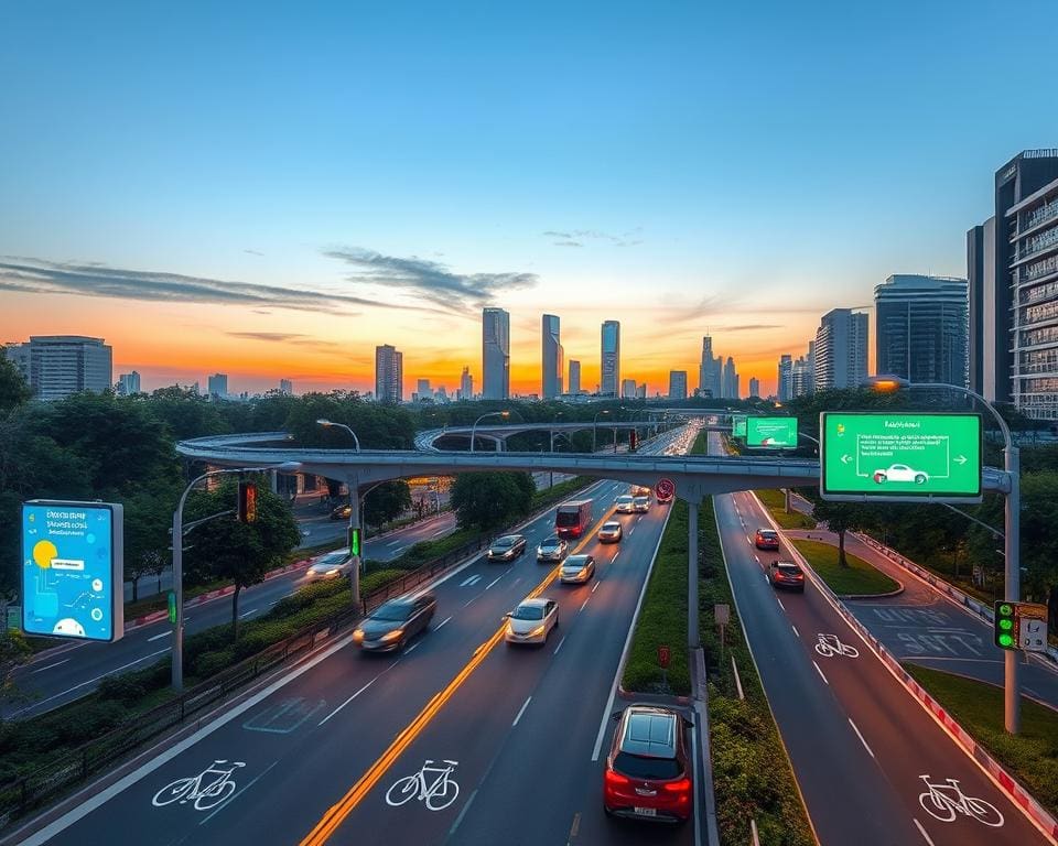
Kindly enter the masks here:
[[[748, 508], [749, 501], [744, 499], [741, 505], [743, 509]], [[764, 573], [763, 567], [760, 572]], [[855, 733], [852, 741], [861, 742], [870, 752], [907, 814], [906, 818], [915, 822], [922, 834], [922, 843], [992, 846], [995, 843], [1048, 842], [904, 690], [814, 585], [809, 583], [803, 595], [776, 592], [775, 600], [796, 628], [795, 637], [814, 663], [818, 683], [828, 688], [851, 720]], [[821, 636], [836, 638], [859, 655], [834, 654], [832, 648], [823, 648], [821, 653], [816, 649]], [[829, 637], [827, 640], [833, 646]], [[944, 785], [948, 779], [957, 779], [967, 795], [994, 806], [1002, 814], [1003, 824], [992, 827], [973, 816], [949, 813], [947, 806], [937, 807], [927, 799], [926, 805], [933, 814], [952, 818], [943, 822], [932, 815], [919, 801], [919, 794], [928, 792], [924, 776], [932, 783]]]

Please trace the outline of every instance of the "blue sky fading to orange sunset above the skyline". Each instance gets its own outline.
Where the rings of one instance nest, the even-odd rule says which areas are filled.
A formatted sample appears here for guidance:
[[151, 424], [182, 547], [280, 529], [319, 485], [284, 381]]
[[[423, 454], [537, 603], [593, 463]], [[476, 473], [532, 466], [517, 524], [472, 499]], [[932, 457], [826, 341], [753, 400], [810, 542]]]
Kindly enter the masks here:
[[[1010, 37], [1014, 28], [1028, 36]], [[964, 276], [995, 171], [1058, 147], [1052, 0], [0, 4], [0, 341], [104, 337], [145, 390], [775, 390], [892, 273]], [[874, 326], [872, 321], [872, 347]], [[872, 349], [873, 355], [873, 349]]]

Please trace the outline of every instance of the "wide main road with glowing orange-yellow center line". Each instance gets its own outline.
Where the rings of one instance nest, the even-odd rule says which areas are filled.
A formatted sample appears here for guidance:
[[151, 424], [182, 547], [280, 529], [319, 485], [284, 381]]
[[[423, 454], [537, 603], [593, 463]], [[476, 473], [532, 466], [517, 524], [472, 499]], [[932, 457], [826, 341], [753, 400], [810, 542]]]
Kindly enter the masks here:
[[[593, 486], [593, 527], [625, 490]], [[544, 648], [494, 641], [503, 614], [553, 574], [531, 552], [552, 513], [521, 530], [529, 554], [509, 565], [477, 558], [436, 584], [431, 630], [400, 655], [358, 654], [343, 639], [24, 843], [107, 842], [118, 825], [129, 842], [298, 843], [354, 785], [333, 843], [692, 843], [693, 825], [644, 828], [602, 811], [617, 665], [667, 511], [622, 517], [619, 545], [590, 534], [583, 551], [598, 576], [543, 588], [560, 605]], [[428, 759], [456, 762], [455, 801], [438, 811], [388, 803], [389, 788]], [[228, 801], [159, 806], [168, 784], [219, 761], [245, 764]]]

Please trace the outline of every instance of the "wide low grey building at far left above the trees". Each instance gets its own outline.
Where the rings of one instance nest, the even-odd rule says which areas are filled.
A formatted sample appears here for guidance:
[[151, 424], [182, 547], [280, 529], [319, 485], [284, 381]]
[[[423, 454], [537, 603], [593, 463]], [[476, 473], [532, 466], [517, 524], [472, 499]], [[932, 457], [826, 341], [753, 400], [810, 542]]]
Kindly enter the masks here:
[[7, 345], [7, 354], [40, 400], [114, 387], [112, 350], [102, 338], [33, 335], [25, 344]]

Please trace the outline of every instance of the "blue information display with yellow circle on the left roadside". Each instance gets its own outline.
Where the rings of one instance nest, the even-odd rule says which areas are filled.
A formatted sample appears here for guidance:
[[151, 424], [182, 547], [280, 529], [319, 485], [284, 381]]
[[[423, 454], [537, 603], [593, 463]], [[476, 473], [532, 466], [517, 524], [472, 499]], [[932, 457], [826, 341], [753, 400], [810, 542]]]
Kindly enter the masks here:
[[22, 628], [28, 634], [121, 638], [122, 522], [116, 503], [22, 503]]

